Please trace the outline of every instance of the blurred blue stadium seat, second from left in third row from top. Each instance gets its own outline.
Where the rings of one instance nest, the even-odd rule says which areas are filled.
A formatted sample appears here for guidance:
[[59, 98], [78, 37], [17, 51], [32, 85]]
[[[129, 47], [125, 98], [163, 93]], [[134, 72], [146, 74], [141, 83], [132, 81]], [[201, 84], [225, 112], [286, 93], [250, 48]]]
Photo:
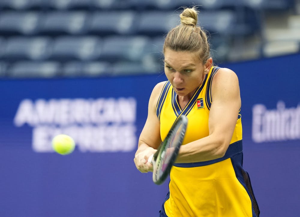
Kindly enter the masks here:
[[61, 36], [54, 40], [51, 59], [97, 59], [101, 53], [101, 46], [101, 39], [96, 36]]

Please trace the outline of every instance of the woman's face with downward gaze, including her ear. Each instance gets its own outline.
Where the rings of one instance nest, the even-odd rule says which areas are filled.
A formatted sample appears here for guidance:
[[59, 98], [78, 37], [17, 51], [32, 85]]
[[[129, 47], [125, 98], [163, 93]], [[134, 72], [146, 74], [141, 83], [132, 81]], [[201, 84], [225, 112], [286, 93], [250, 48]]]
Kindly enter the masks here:
[[165, 49], [164, 57], [165, 74], [179, 96], [193, 95], [212, 63], [209, 58], [203, 64], [194, 52], [174, 51], [169, 48]]

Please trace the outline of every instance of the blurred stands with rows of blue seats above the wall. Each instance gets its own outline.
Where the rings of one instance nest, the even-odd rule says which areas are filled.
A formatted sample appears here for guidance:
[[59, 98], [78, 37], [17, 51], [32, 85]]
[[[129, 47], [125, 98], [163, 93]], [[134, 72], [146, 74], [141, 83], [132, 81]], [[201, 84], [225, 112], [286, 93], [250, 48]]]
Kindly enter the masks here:
[[0, 76], [163, 71], [163, 35], [183, 5], [199, 5], [217, 64], [299, 52], [296, 0], [1, 0]]

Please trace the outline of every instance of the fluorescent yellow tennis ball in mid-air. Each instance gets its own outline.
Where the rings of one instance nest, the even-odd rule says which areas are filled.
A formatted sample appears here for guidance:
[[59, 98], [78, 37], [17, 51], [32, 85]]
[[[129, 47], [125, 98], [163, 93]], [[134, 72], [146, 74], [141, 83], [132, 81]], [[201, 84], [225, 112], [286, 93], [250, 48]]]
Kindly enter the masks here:
[[58, 154], [67, 155], [73, 152], [75, 142], [72, 137], [65, 134], [59, 134], [52, 139], [52, 148]]

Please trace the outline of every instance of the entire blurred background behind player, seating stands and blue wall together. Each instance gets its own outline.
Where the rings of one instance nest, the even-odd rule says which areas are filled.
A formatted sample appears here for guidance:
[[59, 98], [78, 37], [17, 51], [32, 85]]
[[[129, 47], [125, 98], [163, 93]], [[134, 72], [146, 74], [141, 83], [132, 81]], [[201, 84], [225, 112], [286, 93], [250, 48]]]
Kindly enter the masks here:
[[[133, 158], [164, 35], [199, 5], [239, 77], [261, 216], [298, 217], [300, 0], [0, 0], [0, 216], [157, 216], [168, 183]], [[75, 151], [53, 152], [72, 136]]]

